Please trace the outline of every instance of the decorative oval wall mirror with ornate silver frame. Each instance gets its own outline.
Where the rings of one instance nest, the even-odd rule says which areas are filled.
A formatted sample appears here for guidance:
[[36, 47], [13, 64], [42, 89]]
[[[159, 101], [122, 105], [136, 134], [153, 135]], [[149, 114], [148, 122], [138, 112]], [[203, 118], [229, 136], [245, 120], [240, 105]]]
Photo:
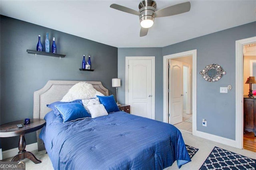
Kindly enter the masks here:
[[226, 72], [218, 64], [209, 64], [205, 66], [202, 71], [200, 71], [200, 74], [204, 80], [208, 82], [216, 82], [220, 80], [220, 78], [222, 78], [223, 74], [226, 74]]

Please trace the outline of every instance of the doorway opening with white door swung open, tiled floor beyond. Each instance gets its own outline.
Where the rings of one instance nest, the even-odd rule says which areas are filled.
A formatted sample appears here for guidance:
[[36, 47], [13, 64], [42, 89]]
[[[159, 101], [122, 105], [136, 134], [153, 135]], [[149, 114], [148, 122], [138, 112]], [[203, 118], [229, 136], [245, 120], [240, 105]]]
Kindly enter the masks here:
[[[178, 62], [178, 63], [177, 63]], [[179, 65], [181, 67], [181, 73], [182, 76], [178, 75], [177, 71], [174, 71], [172, 69], [172, 65]], [[192, 97], [192, 55], [184, 56], [184, 57], [178, 57], [174, 59], [169, 59], [170, 69], [169, 69], [169, 123], [174, 125], [180, 130], [187, 131], [192, 133], [192, 111], [190, 108], [192, 108], [192, 100], [190, 100], [190, 97]], [[176, 69], [177, 70], [177, 69]], [[176, 76], [172, 76], [172, 74], [176, 74]], [[178, 78], [177, 78], [178, 76]], [[172, 77], [176, 77], [173, 79]], [[178, 79], [181, 79], [182, 82], [178, 83]], [[180, 90], [178, 90], [180, 86]], [[172, 93], [174, 91], [174, 93]], [[172, 99], [174, 94], [177, 94], [176, 96], [180, 100], [181, 110], [177, 110], [174, 108], [174, 105], [172, 104]], [[179, 101], [178, 100], [178, 101]], [[191, 102], [190, 102], [191, 101]], [[177, 105], [178, 102], [176, 102]], [[181, 119], [177, 121], [177, 117], [173, 117], [173, 115], [178, 115], [177, 113], [180, 112]]]

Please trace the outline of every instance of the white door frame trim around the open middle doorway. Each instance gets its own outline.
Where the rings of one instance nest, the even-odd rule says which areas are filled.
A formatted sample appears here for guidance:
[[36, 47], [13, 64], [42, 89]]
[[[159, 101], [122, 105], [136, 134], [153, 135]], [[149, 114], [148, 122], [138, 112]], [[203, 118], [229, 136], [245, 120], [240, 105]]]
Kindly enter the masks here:
[[[170, 114], [170, 108], [169, 108], [169, 97], [170, 94], [168, 92], [168, 77], [169, 77], [169, 70], [168, 70], [168, 62], [170, 59], [177, 59], [181, 57], [188, 57], [192, 56], [192, 64], [191, 64], [191, 77], [193, 77], [190, 87], [192, 91], [192, 95], [190, 96], [190, 102], [192, 102], [192, 107], [190, 110], [192, 110], [192, 133], [196, 133], [196, 49], [191, 51], [185, 51], [182, 53], [176, 53], [172, 55], [166, 55], [163, 58], [163, 121], [166, 123], [169, 122]], [[183, 79], [182, 79], [183, 80]], [[183, 86], [182, 86], [183, 87]], [[170, 91], [171, 89], [169, 89]], [[183, 91], [183, 88], [182, 88]], [[182, 111], [183, 112], [183, 111]]]

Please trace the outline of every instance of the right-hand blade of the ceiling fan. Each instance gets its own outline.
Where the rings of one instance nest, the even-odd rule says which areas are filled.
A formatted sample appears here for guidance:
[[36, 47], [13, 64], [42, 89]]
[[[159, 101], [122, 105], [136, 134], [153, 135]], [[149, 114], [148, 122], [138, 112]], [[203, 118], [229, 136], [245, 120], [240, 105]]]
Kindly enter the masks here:
[[156, 17], [166, 17], [166, 16], [174, 16], [177, 14], [182, 14], [184, 12], [190, 11], [190, 2], [184, 2], [181, 4], [176, 4], [173, 6], [169, 6], [154, 12]]

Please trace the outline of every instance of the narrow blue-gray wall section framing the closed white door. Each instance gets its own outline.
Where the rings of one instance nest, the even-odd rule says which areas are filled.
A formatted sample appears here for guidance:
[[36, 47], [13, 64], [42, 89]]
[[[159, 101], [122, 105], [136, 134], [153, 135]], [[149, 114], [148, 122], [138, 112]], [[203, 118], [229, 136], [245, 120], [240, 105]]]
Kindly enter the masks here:
[[118, 88], [118, 102], [125, 103], [125, 57], [147, 57], [154, 56], [156, 63], [155, 77], [155, 119], [163, 121], [163, 58], [162, 48], [118, 48], [118, 78], [122, 84]]

